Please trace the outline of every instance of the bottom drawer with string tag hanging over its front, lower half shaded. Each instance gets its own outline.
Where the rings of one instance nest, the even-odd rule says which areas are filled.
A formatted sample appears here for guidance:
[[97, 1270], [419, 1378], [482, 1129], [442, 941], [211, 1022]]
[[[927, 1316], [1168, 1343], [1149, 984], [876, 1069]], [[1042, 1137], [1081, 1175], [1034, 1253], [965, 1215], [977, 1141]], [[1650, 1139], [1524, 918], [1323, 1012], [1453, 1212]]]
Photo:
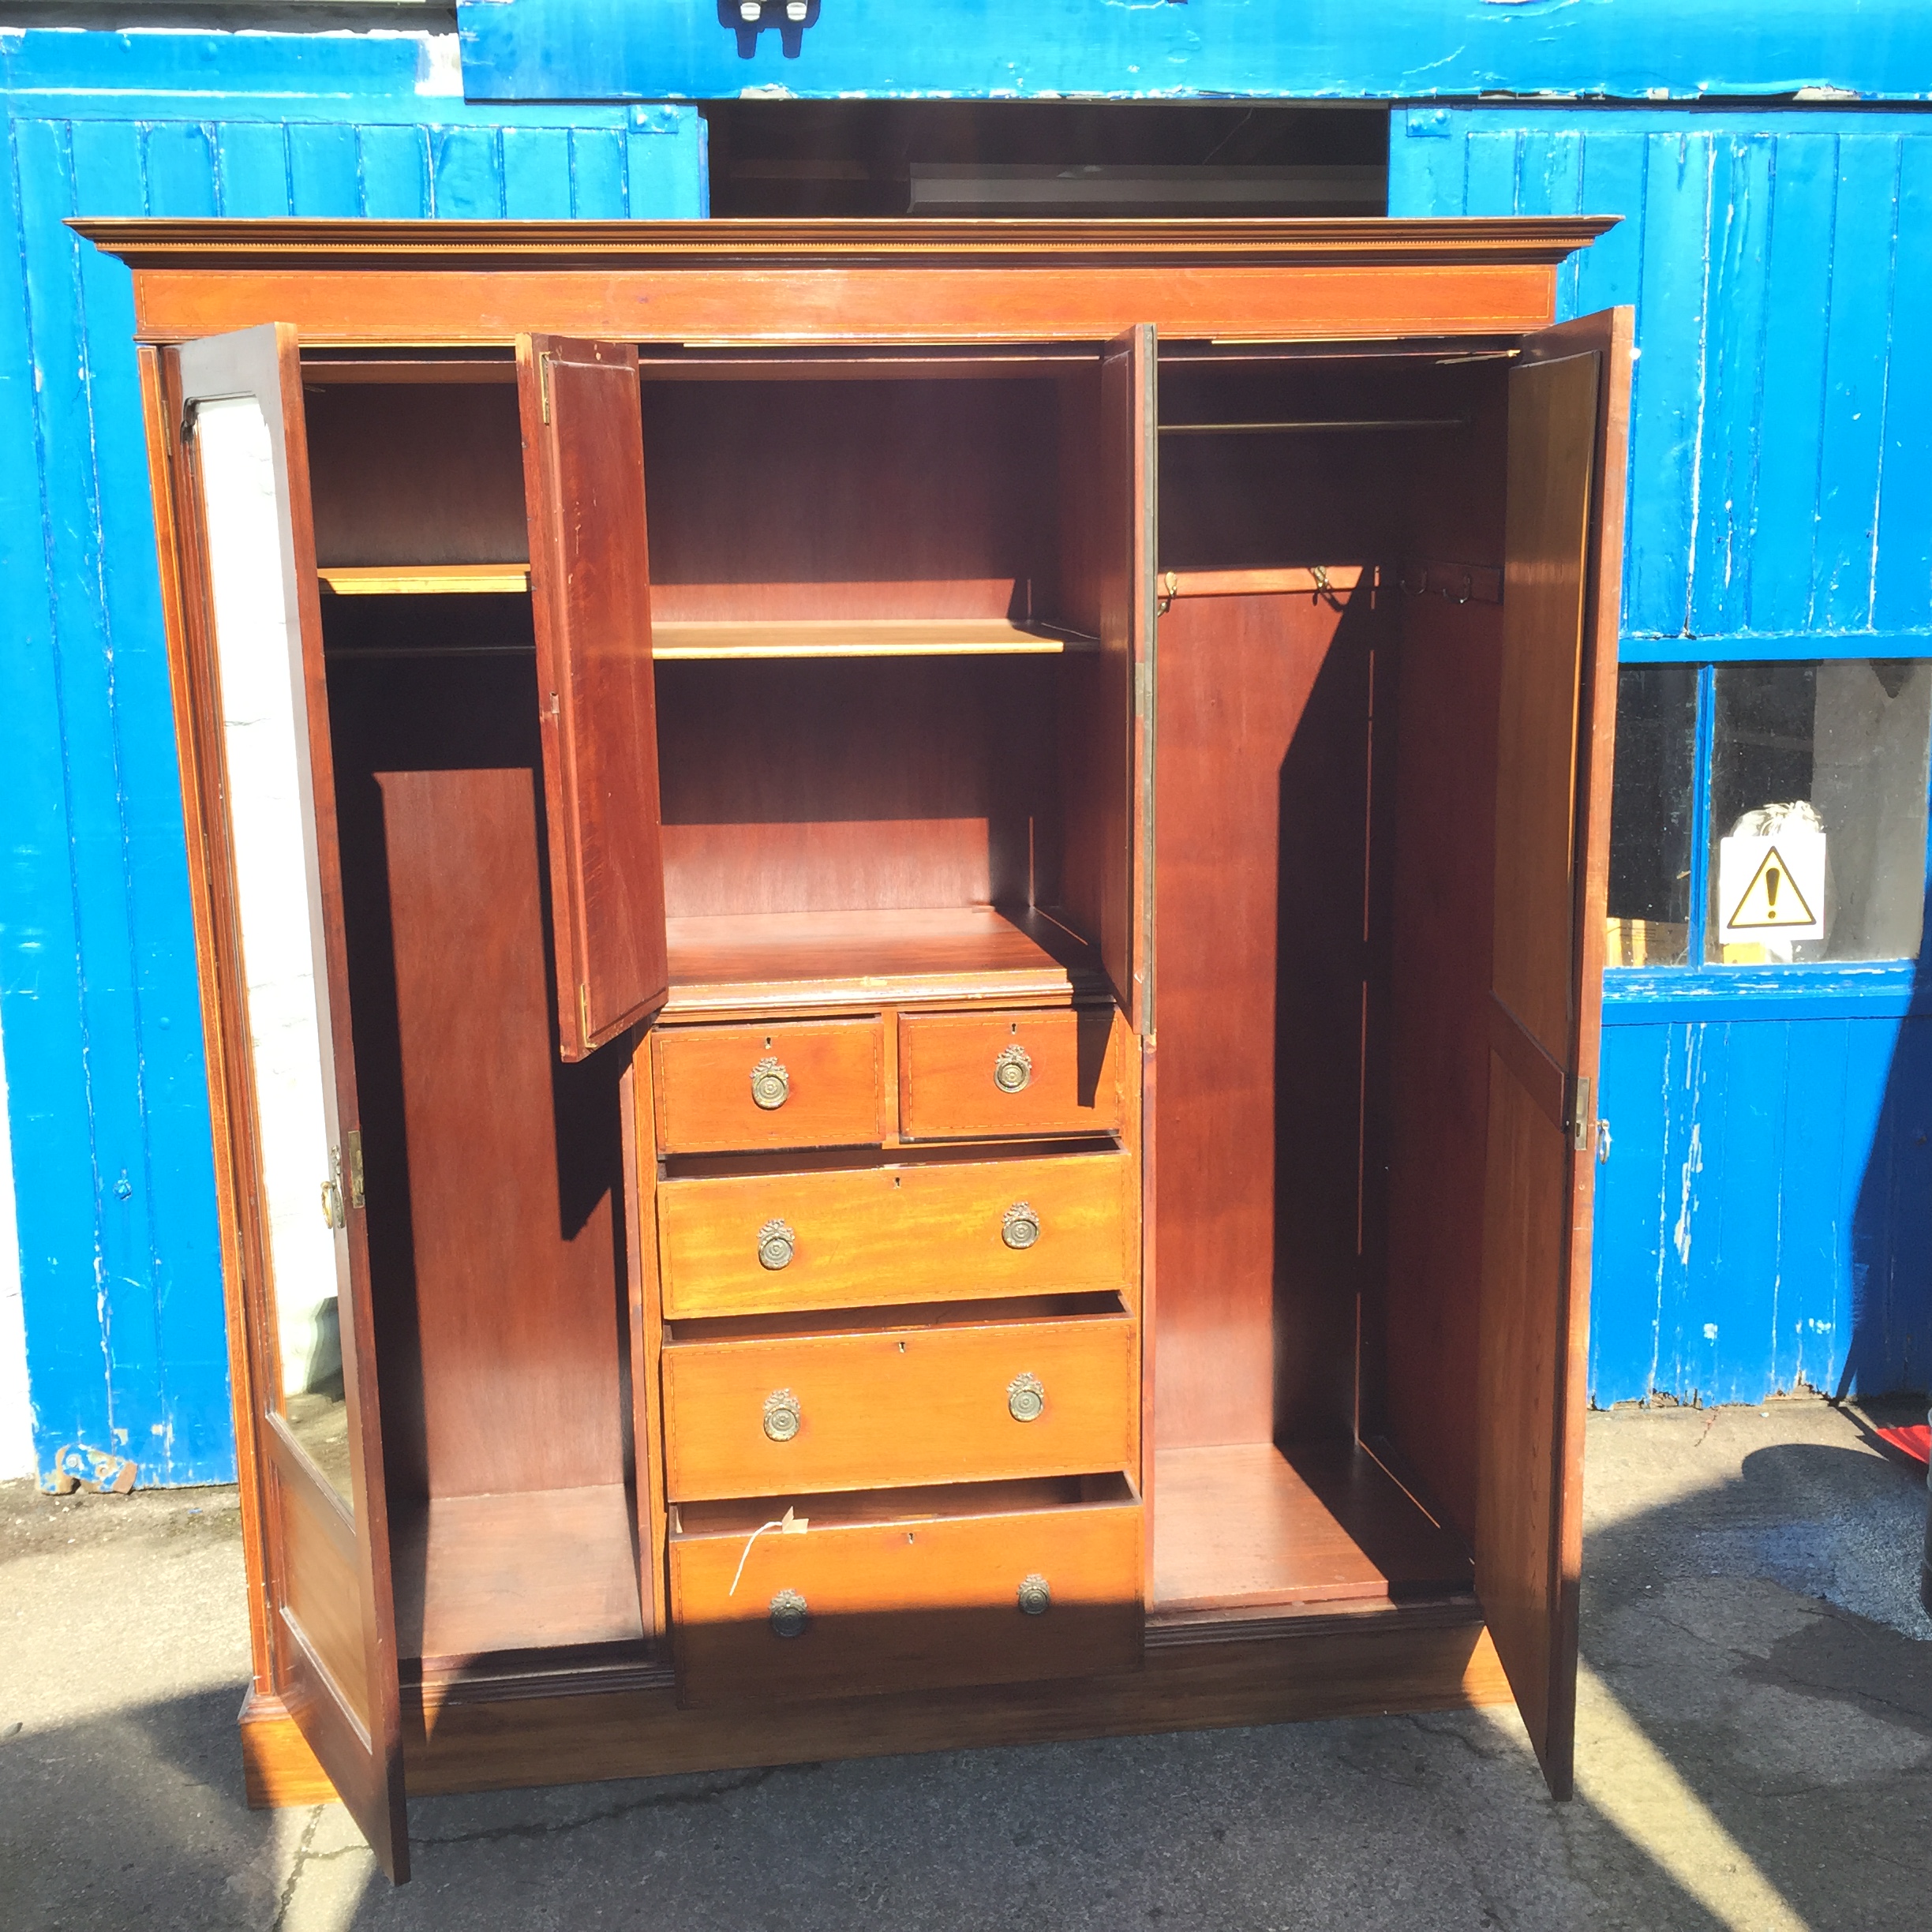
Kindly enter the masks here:
[[1140, 1663], [1140, 1501], [1122, 1476], [838, 1501], [838, 1515], [802, 1503], [802, 1536], [755, 1538], [782, 1515], [777, 1505], [672, 1507], [680, 1704], [1034, 1683]]

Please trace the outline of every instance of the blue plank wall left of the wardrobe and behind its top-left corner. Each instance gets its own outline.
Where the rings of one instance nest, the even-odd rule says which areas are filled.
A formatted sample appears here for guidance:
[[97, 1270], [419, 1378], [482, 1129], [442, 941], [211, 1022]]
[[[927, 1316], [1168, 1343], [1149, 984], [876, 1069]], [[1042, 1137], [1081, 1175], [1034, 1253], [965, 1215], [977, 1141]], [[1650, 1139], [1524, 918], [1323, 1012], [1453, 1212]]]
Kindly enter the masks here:
[[694, 110], [471, 108], [377, 46], [0, 35], [0, 1028], [43, 1480], [234, 1476], [131, 282], [62, 222], [705, 213]]

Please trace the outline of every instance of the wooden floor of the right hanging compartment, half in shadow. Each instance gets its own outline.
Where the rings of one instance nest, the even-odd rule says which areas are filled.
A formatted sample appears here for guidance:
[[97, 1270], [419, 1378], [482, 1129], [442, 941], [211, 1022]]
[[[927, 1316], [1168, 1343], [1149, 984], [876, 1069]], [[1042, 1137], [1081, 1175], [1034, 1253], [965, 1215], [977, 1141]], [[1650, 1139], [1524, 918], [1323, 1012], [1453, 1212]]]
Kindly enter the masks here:
[[1153, 1470], [1155, 1611], [1387, 1602], [1472, 1584], [1463, 1540], [1350, 1443], [1163, 1449]]

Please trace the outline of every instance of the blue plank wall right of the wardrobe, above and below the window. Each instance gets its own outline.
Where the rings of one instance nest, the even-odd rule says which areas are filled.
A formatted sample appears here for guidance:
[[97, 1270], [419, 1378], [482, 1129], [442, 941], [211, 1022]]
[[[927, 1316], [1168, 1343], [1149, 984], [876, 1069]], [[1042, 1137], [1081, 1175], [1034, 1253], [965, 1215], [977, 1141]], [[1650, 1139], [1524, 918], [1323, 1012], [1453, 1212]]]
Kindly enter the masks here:
[[[1408, 108], [1391, 214], [1625, 222], [1565, 270], [1636, 305], [1623, 655], [1932, 657], [1932, 122]], [[1932, 1379], [1922, 962], [1605, 983], [1592, 1395]]]

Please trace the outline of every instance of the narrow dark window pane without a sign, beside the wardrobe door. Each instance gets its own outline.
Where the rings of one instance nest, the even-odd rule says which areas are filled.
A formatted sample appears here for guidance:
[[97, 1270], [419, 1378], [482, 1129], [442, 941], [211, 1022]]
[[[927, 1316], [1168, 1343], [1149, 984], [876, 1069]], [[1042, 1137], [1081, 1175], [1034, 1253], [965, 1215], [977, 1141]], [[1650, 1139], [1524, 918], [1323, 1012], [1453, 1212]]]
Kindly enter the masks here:
[[1611, 966], [1681, 966], [1690, 956], [1696, 680], [1696, 665], [1617, 672], [1604, 952]]

